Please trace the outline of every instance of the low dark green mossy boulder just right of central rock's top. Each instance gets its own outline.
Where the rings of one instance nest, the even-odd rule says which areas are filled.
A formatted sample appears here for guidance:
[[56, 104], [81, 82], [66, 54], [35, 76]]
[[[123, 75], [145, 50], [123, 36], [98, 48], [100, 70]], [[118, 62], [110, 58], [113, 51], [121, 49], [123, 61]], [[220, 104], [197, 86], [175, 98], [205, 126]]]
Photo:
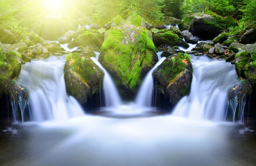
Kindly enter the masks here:
[[153, 42], [156, 47], [160, 45], [167, 44], [170, 46], [181, 46], [184, 48], [189, 48], [189, 44], [180, 39], [177, 34], [173, 34], [169, 29], [163, 29], [157, 32], [153, 36]]

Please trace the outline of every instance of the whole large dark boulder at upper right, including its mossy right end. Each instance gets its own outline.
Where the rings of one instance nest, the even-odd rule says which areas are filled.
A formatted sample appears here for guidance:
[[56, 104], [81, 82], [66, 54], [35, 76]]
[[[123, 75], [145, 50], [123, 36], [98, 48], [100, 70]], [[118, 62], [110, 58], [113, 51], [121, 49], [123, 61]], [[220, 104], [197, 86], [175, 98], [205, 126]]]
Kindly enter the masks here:
[[189, 25], [189, 31], [197, 36], [205, 39], [212, 39], [230, 26], [236, 26], [237, 23], [232, 18], [224, 18], [218, 15], [209, 15], [203, 13], [193, 14], [193, 19]]

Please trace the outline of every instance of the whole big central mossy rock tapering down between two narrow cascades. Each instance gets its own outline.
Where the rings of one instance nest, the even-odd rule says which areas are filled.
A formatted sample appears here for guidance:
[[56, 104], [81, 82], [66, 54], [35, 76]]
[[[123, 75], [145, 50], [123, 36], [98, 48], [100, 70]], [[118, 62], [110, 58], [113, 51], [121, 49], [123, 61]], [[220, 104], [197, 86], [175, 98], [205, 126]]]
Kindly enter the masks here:
[[145, 74], [157, 62], [151, 32], [143, 27], [114, 27], [105, 34], [99, 62], [113, 77], [121, 95], [135, 97]]

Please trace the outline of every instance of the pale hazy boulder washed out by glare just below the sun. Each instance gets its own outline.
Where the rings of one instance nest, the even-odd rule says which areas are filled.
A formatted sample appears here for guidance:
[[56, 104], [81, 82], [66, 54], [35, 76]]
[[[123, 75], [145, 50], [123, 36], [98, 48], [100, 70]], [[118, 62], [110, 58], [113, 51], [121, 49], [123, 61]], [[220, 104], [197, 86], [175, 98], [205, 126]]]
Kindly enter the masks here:
[[45, 40], [56, 40], [67, 32], [67, 23], [62, 17], [47, 15], [33, 27], [33, 30]]

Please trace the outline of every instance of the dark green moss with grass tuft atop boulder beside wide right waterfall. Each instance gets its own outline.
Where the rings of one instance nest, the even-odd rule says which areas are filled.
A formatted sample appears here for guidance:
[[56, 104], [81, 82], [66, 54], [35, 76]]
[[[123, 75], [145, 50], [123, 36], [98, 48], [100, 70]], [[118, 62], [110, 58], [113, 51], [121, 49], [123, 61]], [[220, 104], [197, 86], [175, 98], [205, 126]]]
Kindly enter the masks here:
[[183, 59], [187, 62], [191, 62], [191, 57], [186, 53], [177, 53], [177, 55], [175, 56], [175, 67], [173, 67], [172, 59], [170, 57], [168, 59], [168, 61], [165, 61], [163, 63], [161, 73], [169, 78], [168, 82], [172, 82], [172, 80], [175, 79], [175, 77], [180, 74], [180, 72], [183, 72], [184, 69], [187, 67], [187, 65], [183, 62]]

